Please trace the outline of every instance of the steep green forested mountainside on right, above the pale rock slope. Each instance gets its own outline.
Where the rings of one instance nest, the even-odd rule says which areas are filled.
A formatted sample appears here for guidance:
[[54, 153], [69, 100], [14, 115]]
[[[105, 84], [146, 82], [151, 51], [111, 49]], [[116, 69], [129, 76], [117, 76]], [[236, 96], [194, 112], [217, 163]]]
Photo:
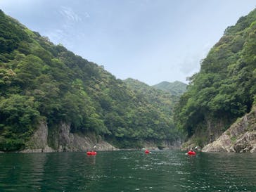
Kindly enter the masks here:
[[256, 102], [256, 10], [227, 27], [200, 64], [174, 119], [179, 129], [204, 146]]

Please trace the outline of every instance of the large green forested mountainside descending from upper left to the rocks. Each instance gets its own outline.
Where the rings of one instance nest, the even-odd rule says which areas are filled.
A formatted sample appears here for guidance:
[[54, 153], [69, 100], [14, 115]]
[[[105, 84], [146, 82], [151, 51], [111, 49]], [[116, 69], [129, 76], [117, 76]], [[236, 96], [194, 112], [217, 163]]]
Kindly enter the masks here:
[[161, 103], [176, 98], [159, 92], [155, 103], [3, 11], [0, 44], [0, 151], [23, 149], [42, 121], [49, 132], [67, 122], [73, 133], [95, 133], [122, 148], [177, 139], [172, 109]]

